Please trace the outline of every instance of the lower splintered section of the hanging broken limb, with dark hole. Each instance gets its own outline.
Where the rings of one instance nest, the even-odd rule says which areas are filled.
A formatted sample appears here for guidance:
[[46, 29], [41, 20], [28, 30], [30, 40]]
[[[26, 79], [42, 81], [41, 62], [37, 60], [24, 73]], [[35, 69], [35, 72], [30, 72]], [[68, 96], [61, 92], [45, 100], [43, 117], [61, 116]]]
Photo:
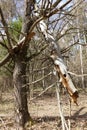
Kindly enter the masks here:
[[67, 73], [66, 66], [64, 65], [63, 61], [60, 58], [58, 58], [58, 56], [51, 55], [51, 58], [54, 61], [55, 70], [57, 71], [58, 76], [60, 77], [60, 82], [67, 89], [71, 97], [71, 101], [74, 102], [76, 105], [78, 105], [77, 104], [78, 91], [75, 88], [69, 74]]

